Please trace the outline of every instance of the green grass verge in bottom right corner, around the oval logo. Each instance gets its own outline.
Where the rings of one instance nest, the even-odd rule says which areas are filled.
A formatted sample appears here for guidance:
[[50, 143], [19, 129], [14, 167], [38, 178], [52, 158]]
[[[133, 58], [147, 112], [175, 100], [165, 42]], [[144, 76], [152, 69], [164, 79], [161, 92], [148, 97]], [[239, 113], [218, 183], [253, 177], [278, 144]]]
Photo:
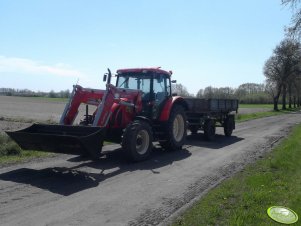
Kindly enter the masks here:
[[287, 206], [301, 216], [300, 138], [301, 125], [264, 159], [211, 190], [173, 225], [280, 225], [266, 214], [273, 205]]

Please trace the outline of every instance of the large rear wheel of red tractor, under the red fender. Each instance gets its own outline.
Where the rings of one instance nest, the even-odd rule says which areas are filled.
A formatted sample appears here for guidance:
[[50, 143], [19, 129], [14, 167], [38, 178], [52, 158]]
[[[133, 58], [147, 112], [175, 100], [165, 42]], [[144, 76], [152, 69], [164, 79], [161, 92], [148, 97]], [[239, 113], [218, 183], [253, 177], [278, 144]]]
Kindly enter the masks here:
[[165, 140], [160, 145], [165, 150], [181, 150], [187, 135], [187, 122], [184, 108], [175, 105], [164, 128]]

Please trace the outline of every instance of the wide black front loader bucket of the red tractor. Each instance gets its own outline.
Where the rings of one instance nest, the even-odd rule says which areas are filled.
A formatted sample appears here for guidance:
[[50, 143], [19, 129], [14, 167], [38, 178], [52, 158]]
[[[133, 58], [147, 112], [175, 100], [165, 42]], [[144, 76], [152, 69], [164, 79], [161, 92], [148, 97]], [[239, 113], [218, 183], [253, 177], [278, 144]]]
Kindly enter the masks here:
[[33, 124], [23, 130], [6, 133], [24, 150], [89, 154], [99, 158], [105, 128]]

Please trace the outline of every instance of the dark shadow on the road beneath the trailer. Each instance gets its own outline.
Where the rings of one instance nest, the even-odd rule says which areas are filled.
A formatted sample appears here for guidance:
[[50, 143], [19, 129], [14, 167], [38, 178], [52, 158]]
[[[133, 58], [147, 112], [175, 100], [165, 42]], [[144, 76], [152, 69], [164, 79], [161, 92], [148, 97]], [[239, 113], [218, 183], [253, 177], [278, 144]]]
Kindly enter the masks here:
[[214, 141], [206, 141], [202, 133], [197, 133], [197, 134], [190, 134], [187, 136], [186, 145], [211, 148], [211, 149], [220, 149], [242, 140], [243, 138], [241, 137], [236, 137], [236, 136], [226, 137], [224, 135], [216, 134]]

